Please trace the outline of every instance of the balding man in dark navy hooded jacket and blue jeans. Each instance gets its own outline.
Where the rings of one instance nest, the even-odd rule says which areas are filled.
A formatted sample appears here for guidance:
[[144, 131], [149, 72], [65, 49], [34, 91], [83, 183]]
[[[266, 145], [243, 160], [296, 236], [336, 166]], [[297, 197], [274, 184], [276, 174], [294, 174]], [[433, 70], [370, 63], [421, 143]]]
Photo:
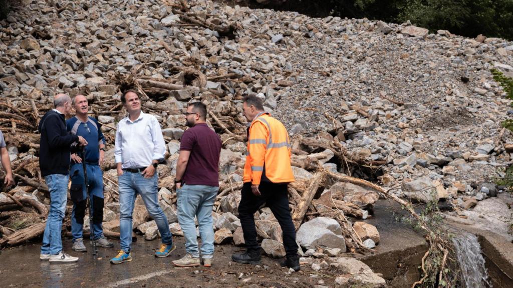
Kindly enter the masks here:
[[53, 105], [55, 109], [48, 111], [37, 127], [41, 134], [39, 166], [50, 191], [50, 212], [43, 235], [40, 259], [50, 262], [74, 262], [78, 258], [63, 251], [61, 231], [66, 211], [71, 145], [78, 142], [78, 146], [85, 146], [87, 140], [66, 131], [65, 114], [71, 111], [70, 97], [66, 94], [57, 94], [53, 98]]

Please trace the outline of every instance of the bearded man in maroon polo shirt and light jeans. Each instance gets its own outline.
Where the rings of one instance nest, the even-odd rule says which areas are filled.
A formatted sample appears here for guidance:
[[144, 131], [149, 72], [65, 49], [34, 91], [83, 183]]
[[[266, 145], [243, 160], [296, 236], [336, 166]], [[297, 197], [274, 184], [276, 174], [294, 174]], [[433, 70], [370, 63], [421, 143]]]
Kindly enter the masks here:
[[219, 190], [221, 138], [206, 124], [207, 107], [192, 102], [185, 113], [187, 126], [182, 135], [176, 163], [176, 205], [178, 222], [184, 232], [186, 255], [173, 264], [180, 267], [200, 265], [194, 216], [198, 218], [203, 265], [212, 266], [214, 230], [212, 207]]

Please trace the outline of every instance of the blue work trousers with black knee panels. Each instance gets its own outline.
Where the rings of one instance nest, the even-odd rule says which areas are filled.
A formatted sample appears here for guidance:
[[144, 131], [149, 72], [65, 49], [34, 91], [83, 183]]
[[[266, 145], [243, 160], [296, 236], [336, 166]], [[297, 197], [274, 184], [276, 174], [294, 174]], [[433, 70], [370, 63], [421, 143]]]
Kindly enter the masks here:
[[[89, 203], [93, 211], [93, 221], [89, 223], [89, 227], [94, 232], [94, 240], [97, 240], [103, 236], [103, 172], [97, 164], [86, 164], [86, 169], [90, 194]], [[71, 234], [74, 242], [76, 239], [83, 237], [84, 215], [87, 209], [87, 190], [83, 164], [73, 164], [69, 170], [69, 175], [71, 177], [70, 196], [71, 201], [73, 201]]]

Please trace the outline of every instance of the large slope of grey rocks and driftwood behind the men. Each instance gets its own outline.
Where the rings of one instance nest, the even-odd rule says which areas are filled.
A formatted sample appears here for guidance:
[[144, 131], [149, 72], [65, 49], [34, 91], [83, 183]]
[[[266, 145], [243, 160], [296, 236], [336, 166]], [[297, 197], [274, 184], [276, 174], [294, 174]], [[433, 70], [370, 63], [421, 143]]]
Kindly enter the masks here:
[[[245, 95], [262, 98], [292, 136], [298, 181], [289, 189], [290, 207], [305, 255], [321, 259], [315, 254], [321, 247], [322, 255], [336, 257], [379, 242], [368, 224], [325, 218], [343, 212], [365, 219], [378, 193], [319, 173], [377, 176], [400, 197], [443, 200], [451, 209], [468, 209], [503, 191], [489, 182], [510, 163], [505, 142], [511, 134], [500, 122], [513, 112], [490, 69], [513, 76], [511, 42], [210, 1], [53, 3], [28, 1], [0, 22], [0, 128], [17, 181], [0, 194], [2, 245], [34, 238], [44, 228], [49, 200], [38, 171], [36, 126], [61, 91], [87, 95], [106, 135], [104, 227], [114, 237], [119, 204], [113, 142], [116, 122], [125, 116], [121, 91], [129, 87], [143, 93], [143, 109], [162, 125], [168, 153], [157, 169], [159, 200], [174, 235], [183, 235], [174, 167], [185, 130], [182, 113], [194, 99], [208, 105], [209, 125], [223, 140], [213, 213], [218, 244], [244, 242], [236, 208], [246, 149]], [[28, 234], [9, 227], [23, 217], [32, 219]], [[255, 218], [266, 253], [284, 255], [272, 213], [264, 208]], [[158, 237], [150, 220], [136, 203], [134, 229], [148, 240]]]

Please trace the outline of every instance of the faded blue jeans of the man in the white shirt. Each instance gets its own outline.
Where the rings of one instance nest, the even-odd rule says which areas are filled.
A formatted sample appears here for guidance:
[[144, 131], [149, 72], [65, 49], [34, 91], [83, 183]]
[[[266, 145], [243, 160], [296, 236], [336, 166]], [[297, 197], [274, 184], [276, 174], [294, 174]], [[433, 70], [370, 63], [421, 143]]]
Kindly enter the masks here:
[[155, 220], [162, 236], [162, 243], [167, 245], [173, 243], [167, 217], [157, 200], [159, 189], [157, 177], [157, 173], [152, 178], [144, 178], [141, 173], [124, 170], [123, 175], [117, 178], [120, 188], [120, 242], [121, 250], [126, 253], [130, 253], [132, 244], [132, 213], [137, 194], [141, 195], [148, 214]]

